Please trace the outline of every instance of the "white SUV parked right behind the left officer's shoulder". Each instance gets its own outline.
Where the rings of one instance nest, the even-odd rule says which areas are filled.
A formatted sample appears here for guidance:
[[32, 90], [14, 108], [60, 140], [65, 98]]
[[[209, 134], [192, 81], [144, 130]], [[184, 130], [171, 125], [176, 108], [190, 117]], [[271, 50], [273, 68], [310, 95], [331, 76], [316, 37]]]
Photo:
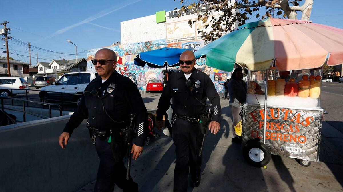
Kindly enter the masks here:
[[82, 94], [97, 76], [98, 74], [93, 72], [66, 73], [53, 85], [42, 87], [39, 97], [43, 102], [51, 102], [48, 99], [77, 101], [80, 96], [73, 94]]

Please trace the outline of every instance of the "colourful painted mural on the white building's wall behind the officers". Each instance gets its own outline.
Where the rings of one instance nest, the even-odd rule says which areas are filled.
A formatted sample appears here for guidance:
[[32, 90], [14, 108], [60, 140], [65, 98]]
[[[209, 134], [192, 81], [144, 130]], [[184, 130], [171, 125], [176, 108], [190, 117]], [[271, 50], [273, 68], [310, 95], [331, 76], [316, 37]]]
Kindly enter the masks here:
[[[116, 52], [118, 57], [116, 66], [117, 72], [131, 79], [131, 81], [137, 85], [137, 88], [139, 90], [145, 90], [146, 84], [149, 82], [149, 80], [157, 79], [163, 82], [163, 70], [165, 70], [165, 68], [151, 68], [147, 66], [140, 67], [134, 65], [133, 59], [137, 56], [138, 53], [160, 49], [166, 46], [173, 48], [190, 49], [191, 51], [196, 52], [204, 45], [205, 43], [203, 40], [166, 44], [166, 40], [162, 39], [156, 41], [132, 43], [127, 45], [108, 46], [104, 48], [108, 48]], [[87, 51], [87, 71], [96, 72], [91, 60], [94, 59], [94, 55], [99, 49], [92, 49]], [[209, 76], [209, 78], [213, 81], [213, 84], [218, 93], [224, 93], [223, 83], [226, 81], [228, 75], [230, 75], [230, 72], [221, 71], [206, 66], [205, 61], [205, 58], [197, 59], [195, 67]], [[179, 67], [169, 67], [168, 70], [177, 71], [179, 70]]]

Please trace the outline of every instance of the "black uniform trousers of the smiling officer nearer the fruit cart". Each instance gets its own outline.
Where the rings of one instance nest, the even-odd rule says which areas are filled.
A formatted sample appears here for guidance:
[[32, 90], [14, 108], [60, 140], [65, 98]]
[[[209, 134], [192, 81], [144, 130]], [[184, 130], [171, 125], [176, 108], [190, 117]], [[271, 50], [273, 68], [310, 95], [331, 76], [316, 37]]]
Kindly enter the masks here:
[[173, 124], [176, 163], [174, 169], [174, 191], [187, 191], [188, 172], [194, 181], [200, 176], [201, 157], [199, 151], [203, 135], [199, 134], [199, 123], [176, 118]]

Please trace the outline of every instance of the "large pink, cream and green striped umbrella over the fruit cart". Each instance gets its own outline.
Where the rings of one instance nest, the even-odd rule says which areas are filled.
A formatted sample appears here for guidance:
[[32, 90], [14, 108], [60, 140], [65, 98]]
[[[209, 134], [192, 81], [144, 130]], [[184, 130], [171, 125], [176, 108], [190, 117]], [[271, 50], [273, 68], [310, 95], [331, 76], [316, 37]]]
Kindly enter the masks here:
[[232, 71], [234, 64], [279, 71], [343, 63], [343, 30], [307, 20], [267, 18], [247, 23], [195, 52], [206, 65]]

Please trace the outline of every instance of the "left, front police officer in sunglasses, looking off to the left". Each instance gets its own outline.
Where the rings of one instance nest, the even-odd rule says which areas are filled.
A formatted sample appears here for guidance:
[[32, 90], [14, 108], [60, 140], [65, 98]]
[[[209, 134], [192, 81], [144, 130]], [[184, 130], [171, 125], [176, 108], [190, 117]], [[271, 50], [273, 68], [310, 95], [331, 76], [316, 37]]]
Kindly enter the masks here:
[[[65, 149], [73, 130], [88, 118], [88, 127], [100, 158], [100, 165], [94, 191], [113, 192], [115, 184], [123, 191], [138, 191], [138, 184], [132, 178], [126, 179], [123, 157], [128, 144], [123, 138], [123, 127], [127, 126], [130, 114], [135, 114], [137, 138], [132, 146], [132, 159], [143, 151], [147, 136], [147, 111], [137, 86], [116, 70], [117, 56], [110, 49], [100, 49], [92, 60], [99, 77], [85, 89], [79, 107], [59, 137], [59, 145]], [[98, 95], [86, 94], [94, 93]], [[93, 91], [93, 92], [92, 92]]]

